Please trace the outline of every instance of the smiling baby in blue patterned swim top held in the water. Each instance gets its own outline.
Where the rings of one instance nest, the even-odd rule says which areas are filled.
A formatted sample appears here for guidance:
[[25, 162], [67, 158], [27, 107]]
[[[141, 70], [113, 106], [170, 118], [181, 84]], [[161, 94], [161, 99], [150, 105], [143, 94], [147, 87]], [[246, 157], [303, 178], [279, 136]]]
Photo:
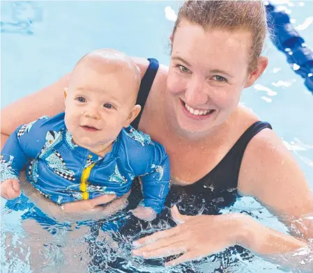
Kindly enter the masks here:
[[1, 196], [20, 195], [25, 165], [33, 187], [59, 205], [122, 196], [141, 176], [144, 205], [133, 213], [154, 219], [169, 192], [169, 159], [130, 126], [140, 111], [139, 85], [137, 66], [121, 52], [101, 49], [79, 60], [64, 89], [65, 112], [18, 127], [3, 147]]

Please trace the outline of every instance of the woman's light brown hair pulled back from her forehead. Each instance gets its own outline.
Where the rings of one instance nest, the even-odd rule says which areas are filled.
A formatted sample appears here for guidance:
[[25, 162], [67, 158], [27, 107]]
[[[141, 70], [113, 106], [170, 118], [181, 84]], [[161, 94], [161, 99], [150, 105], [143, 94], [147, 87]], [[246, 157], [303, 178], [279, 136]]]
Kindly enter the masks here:
[[249, 72], [257, 68], [268, 29], [266, 10], [261, 0], [188, 0], [179, 9], [174, 25], [175, 32], [182, 20], [188, 20], [204, 29], [223, 29], [227, 31], [245, 30], [251, 33], [252, 43], [249, 56]]

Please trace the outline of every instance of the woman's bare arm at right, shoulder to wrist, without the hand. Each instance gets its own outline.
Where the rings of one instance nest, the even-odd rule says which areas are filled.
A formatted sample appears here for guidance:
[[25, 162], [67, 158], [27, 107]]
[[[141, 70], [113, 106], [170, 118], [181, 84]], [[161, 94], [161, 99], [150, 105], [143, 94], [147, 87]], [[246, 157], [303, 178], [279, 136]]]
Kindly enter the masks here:
[[[292, 251], [306, 247], [308, 251], [298, 256], [311, 260], [313, 268], [313, 195], [303, 171], [272, 130], [263, 130], [250, 141], [238, 182], [242, 195], [254, 196], [289, 227], [291, 235], [273, 231], [265, 226], [254, 228], [245, 237], [252, 251], [283, 261], [291, 260]], [[253, 232], [254, 229], [254, 232]], [[261, 231], [259, 235], [257, 232]], [[293, 246], [289, 242], [297, 240]], [[291, 251], [291, 253], [288, 253]], [[279, 258], [277, 255], [282, 255]], [[293, 262], [295, 258], [293, 256]]]

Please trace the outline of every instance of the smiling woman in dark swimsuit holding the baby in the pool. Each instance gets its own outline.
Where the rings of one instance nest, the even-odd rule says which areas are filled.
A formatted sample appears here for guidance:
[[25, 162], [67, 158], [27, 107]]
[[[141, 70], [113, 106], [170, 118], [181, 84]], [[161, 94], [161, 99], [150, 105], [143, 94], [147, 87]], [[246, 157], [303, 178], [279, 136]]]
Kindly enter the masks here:
[[[260, 56], [265, 37], [261, 1], [186, 1], [170, 37], [169, 68], [158, 68], [154, 59], [135, 59], [143, 77], [138, 97], [143, 110], [133, 125], [162, 143], [169, 154], [169, 198], [178, 204], [180, 212], [174, 207], [172, 215], [180, 224], [135, 242], [146, 246], [134, 255], [183, 253], [167, 263], [176, 265], [234, 244], [259, 254], [308, 246], [313, 202], [305, 176], [270, 125], [238, 104], [243, 88], [266, 69], [268, 60]], [[2, 143], [17, 125], [63, 111], [67, 85], [68, 75], [3, 109]], [[234, 203], [236, 194], [257, 198], [289, 227], [296, 226], [300, 238], [273, 231], [244, 214], [218, 214]], [[98, 205], [110, 200], [101, 196], [70, 203], [63, 211], [103, 217], [108, 212]], [[123, 204], [118, 200], [109, 210]], [[59, 215], [55, 205], [40, 206]], [[190, 216], [201, 208], [203, 215]]]

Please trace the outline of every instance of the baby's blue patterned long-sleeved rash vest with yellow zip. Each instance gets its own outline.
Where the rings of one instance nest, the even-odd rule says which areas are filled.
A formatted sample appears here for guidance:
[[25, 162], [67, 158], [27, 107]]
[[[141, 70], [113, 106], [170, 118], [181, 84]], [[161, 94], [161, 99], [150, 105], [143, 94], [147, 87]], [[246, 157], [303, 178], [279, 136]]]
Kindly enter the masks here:
[[122, 196], [140, 176], [144, 205], [160, 213], [169, 192], [169, 158], [160, 143], [130, 126], [100, 157], [72, 142], [64, 113], [43, 116], [10, 135], [1, 151], [1, 182], [17, 179], [25, 165], [29, 182], [60, 205], [102, 194]]

